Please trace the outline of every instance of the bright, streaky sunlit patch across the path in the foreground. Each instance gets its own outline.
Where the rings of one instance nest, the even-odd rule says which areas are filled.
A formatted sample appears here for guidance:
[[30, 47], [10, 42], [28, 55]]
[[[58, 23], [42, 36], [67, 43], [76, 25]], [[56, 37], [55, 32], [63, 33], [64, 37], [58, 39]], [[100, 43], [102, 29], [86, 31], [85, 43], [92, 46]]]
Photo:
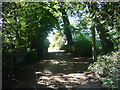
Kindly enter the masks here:
[[63, 74], [59, 73], [56, 75], [41, 76], [37, 79], [37, 84], [42, 84], [48, 88], [74, 88], [80, 84], [87, 83], [87, 75], [85, 73], [71, 73]]

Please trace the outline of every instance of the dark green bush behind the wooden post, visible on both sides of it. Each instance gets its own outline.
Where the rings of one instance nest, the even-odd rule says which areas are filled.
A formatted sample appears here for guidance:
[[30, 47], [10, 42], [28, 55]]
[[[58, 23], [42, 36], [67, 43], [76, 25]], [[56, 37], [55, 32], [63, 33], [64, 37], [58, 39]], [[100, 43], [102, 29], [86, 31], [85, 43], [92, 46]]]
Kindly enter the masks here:
[[[64, 45], [61, 49], [65, 49], [67, 52], [70, 52], [76, 56], [91, 57], [92, 56], [92, 41], [90, 37], [89, 39], [87, 39], [81, 34], [73, 38], [72, 46]], [[101, 43], [99, 40], [97, 40], [96, 41], [97, 55], [101, 54], [100, 52], [101, 52]]]

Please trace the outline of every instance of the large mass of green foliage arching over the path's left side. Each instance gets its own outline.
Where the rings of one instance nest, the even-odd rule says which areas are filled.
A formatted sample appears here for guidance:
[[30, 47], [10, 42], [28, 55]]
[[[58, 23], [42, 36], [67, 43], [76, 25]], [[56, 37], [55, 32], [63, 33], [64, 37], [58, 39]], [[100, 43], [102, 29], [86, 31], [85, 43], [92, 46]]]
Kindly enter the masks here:
[[2, 3], [2, 63], [5, 76], [12, 72], [14, 65], [40, 60], [47, 54], [49, 42], [46, 37], [57, 24], [53, 6], [54, 3], [45, 2]]

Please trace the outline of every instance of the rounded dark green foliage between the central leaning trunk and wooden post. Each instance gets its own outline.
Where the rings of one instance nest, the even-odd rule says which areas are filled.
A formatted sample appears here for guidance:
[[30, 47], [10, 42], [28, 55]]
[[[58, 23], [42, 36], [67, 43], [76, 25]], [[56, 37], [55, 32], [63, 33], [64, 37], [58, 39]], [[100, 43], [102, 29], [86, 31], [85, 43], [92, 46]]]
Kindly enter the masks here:
[[92, 55], [92, 43], [82, 35], [74, 39], [72, 49], [75, 55], [87, 57]]

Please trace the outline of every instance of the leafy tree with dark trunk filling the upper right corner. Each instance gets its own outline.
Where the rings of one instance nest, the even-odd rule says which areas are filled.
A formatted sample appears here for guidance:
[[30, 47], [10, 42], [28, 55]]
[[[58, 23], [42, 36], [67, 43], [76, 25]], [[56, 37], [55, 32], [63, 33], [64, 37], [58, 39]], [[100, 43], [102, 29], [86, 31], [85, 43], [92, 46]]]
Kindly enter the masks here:
[[99, 33], [104, 54], [118, 49], [119, 3], [86, 3], [89, 17]]

